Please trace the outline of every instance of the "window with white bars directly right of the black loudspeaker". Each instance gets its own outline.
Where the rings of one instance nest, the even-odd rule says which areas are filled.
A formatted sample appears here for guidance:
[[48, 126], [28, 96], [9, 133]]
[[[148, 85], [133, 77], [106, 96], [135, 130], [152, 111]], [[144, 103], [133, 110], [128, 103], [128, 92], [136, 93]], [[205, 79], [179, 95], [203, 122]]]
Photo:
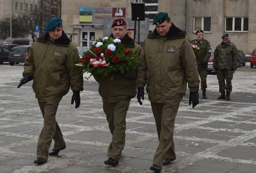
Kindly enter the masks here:
[[153, 21], [158, 13], [158, 0], [142, 0], [142, 2], [145, 3], [145, 18], [149, 18], [149, 21]]

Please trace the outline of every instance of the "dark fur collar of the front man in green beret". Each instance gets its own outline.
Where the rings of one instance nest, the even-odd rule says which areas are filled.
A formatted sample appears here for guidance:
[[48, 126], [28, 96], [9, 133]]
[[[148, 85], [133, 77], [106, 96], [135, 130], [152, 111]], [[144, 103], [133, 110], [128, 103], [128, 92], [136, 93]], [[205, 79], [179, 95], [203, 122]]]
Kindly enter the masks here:
[[[185, 38], [185, 33], [180, 30], [180, 28], [177, 28], [174, 23], [170, 26], [170, 30], [167, 32], [167, 34], [164, 36], [165, 38]], [[152, 37], [161, 37], [158, 32], [156, 31], [156, 28], [154, 29], [154, 32], [148, 34], [148, 38]]]

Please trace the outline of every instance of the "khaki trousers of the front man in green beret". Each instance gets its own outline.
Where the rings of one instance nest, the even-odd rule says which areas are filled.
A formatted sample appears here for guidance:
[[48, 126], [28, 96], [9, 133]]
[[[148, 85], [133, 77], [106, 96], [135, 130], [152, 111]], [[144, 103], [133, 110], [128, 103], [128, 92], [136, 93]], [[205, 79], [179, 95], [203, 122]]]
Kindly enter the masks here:
[[173, 133], [175, 117], [177, 115], [179, 105], [180, 101], [176, 103], [151, 102], [159, 139], [159, 145], [154, 154], [154, 165], [162, 167], [164, 158], [176, 158]]

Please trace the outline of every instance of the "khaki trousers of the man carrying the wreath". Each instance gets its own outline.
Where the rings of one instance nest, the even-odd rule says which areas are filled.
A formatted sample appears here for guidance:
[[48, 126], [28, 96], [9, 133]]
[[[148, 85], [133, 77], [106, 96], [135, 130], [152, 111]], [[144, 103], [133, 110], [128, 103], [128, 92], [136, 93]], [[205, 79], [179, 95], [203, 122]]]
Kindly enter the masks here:
[[103, 101], [103, 111], [106, 114], [112, 141], [108, 147], [108, 157], [119, 160], [125, 144], [126, 114], [130, 100], [120, 100], [114, 103]]

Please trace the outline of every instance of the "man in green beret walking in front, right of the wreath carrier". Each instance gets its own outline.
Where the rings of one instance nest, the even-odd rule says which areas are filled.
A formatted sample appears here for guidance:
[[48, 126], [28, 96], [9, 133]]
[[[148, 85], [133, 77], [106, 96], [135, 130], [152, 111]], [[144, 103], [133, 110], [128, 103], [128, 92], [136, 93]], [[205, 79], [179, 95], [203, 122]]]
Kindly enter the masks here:
[[137, 99], [141, 105], [146, 86], [156, 121], [159, 145], [150, 170], [159, 173], [162, 165], [176, 159], [174, 121], [186, 84], [190, 89], [189, 105], [192, 102], [194, 108], [199, 102], [197, 90], [200, 80], [190, 40], [172, 23], [168, 13], [158, 13], [153, 25], [156, 26], [154, 32], [148, 34], [142, 46], [136, 83]]

